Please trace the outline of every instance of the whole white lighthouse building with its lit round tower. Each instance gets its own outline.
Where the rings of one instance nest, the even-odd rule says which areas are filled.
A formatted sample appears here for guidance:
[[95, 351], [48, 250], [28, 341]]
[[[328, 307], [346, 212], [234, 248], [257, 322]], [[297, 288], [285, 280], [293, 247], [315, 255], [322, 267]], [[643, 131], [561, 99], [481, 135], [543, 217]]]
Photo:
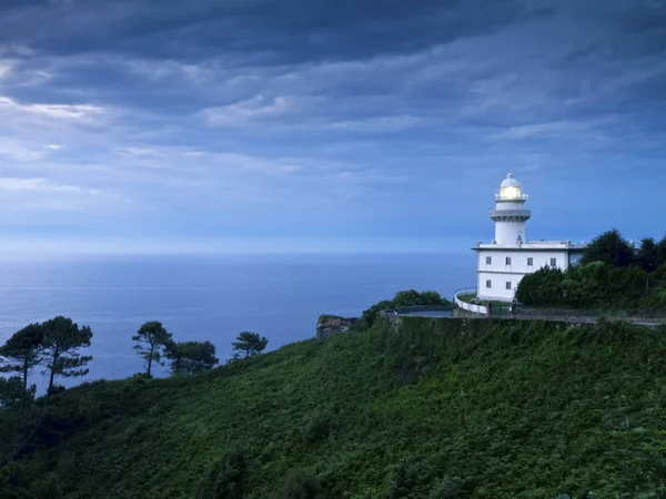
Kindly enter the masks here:
[[495, 194], [495, 240], [476, 243], [477, 296], [482, 301], [511, 302], [524, 275], [548, 265], [566, 269], [581, 259], [585, 244], [571, 241], [528, 241], [525, 222], [532, 212], [527, 195], [509, 173]]

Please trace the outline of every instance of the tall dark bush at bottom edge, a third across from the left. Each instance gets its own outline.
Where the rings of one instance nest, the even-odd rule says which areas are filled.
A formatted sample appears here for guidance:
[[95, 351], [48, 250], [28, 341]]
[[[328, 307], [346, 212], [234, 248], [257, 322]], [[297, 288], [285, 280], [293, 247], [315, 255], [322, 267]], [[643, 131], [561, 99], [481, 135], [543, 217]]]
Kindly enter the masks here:
[[195, 492], [198, 499], [242, 499], [245, 458], [241, 450], [231, 449], [213, 462]]

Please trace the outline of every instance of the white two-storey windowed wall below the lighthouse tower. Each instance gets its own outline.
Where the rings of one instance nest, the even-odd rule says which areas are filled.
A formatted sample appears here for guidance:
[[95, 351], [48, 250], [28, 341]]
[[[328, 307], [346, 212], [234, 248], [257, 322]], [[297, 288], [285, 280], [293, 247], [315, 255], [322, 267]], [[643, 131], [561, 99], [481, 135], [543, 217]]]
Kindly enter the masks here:
[[[491, 257], [490, 264], [486, 263], [486, 257]], [[507, 264], [506, 258], [511, 258], [511, 264]], [[527, 265], [528, 258], [532, 258], [532, 265]], [[511, 302], [523, 276], [544, 266], [549, 266], [552, 264], [551, 258], [555, 258], [555, 266], [563, 271], [569, 266], [568, 252], [562, 249], [480, 249], [477, 261], [478, 297], [481, 299]], [[491, 282], [490, 288], [486, 285], [487, 281]], [[511, 288], [507, 289], [506, 283], [511, 283]]]

